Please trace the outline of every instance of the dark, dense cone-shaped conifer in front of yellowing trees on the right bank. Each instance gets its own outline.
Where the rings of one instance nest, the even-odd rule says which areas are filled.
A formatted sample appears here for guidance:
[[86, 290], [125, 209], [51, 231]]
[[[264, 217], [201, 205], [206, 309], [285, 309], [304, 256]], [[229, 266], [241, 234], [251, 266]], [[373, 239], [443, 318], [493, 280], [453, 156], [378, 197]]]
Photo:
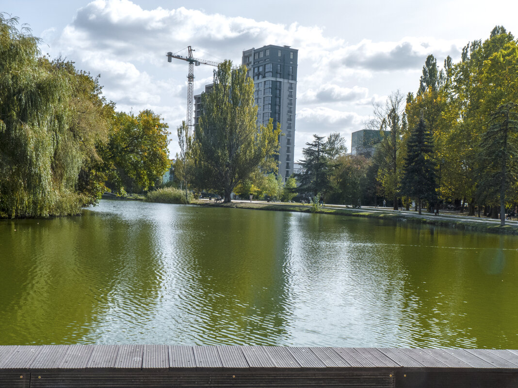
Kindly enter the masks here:
[[431, 201], [436, 197], [435, 167], [431, 159], [433, 151], [431, 133], [421, 119], [418, 125], [410, 131], [402, 179], [403, 191], [407, 196], [415, 198], [419, 214], [421, 214], [422, 200]]

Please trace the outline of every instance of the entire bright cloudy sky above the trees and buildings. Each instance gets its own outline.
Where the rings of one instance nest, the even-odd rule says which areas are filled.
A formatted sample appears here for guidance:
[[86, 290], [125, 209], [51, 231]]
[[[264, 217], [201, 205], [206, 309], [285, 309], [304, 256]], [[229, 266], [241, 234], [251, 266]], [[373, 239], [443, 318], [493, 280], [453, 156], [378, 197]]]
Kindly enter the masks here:
[[[168, 63], [167, 51], [185, 55], [191, 45], [196, 57], [239, 64], [252, 47], [298, 49], [297, 160], [313, 133], [339, 131], [350, 148], [373, 102], [416, 91], [428, 54], [456, 62], [468, 41], [486, 39], [497, 24], [518, 34], [511, 0], [2, 0], [0, 11], [31, 27], [42, 53], [100, 73], [118, 110], [161, 114], [173, 133], [171, 157], [185, 120], [188, 64]], [[212, 70], [195, 67], [195, 94]]]

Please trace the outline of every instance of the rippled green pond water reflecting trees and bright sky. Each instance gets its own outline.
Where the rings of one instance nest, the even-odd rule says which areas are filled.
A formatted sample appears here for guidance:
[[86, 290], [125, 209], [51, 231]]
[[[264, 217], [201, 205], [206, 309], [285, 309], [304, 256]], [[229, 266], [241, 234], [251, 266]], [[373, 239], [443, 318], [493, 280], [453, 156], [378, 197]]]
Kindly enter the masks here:
[[0, 345], [518, 349], [518, 238], [102, 201], [0, 221]]

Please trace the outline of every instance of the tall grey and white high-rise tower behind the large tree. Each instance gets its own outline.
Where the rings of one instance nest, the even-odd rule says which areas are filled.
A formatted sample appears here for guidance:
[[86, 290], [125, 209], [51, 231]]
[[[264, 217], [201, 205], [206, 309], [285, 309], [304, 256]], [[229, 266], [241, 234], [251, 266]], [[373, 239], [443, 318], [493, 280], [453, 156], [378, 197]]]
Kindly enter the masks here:
[[263, 46], [243, 51], [242, 64], [255, 85], [257, 123], [274, 128], [281, 124], [279, 174], [286, 180], [293, 173], [298, 50], [290, 46]]

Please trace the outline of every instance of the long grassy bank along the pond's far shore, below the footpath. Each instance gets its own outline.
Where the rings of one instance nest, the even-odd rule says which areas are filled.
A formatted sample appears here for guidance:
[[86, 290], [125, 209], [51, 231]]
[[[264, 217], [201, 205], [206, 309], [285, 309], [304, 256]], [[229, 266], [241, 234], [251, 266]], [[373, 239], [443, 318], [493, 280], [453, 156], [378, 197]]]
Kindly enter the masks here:
[[[269, 210], [275, 212], [299, 212], [310, 213], [309, 205], [295, 204], [295, 203], [258, 203], [258, 202], [232, 202], [232, 203], [214, 203], [209, 201], [195, 200], [192, 202], [201, 206], [219, 206], [219, 207], [235, 207], [241, 209], [255, 209], [255, 210]], [[414, 222], [424, 223], [426, 225], [434, 225], [440, 227], [454, 228], [458, 230], [472, 230], [479, 232], [502, 233], [502, 234], [518, 234], [518, 226], [505, 225], [500, 226], [499, 222], [489, 219], [474, 218], [473, 220], [451, 218], [435, 218], [433, 215], [424, 214], [409, 214], [391, 211], [370, 211], [365, 209], [349, 209], [349, 208], [322, 208], [320, 214], [349, 216], [349, 217], [363, 217], [363, 218], [377, 218], [383, 220], [393, 220], [396, 222]], [[447, 216], [446, 216], [447, 217]], [[482, 220], [483, 222], [480, 222]]]

